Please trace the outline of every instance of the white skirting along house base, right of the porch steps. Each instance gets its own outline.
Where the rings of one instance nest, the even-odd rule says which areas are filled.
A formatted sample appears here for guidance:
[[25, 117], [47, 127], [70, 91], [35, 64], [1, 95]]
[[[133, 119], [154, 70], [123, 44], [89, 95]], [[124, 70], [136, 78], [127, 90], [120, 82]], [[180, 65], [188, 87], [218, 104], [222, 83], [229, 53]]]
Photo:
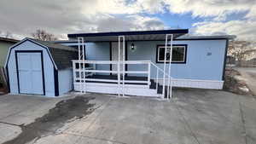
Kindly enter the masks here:
[[[162, 79], [159, 80], [160, 84], [162, 84], [162, 81], [163, 81]], [[166, 84], [167, 83], [168, 81], [166, 80]], [[224, 84], [224, 81], [172, 78], [173, 87], [223, 89], [223, 84]]]

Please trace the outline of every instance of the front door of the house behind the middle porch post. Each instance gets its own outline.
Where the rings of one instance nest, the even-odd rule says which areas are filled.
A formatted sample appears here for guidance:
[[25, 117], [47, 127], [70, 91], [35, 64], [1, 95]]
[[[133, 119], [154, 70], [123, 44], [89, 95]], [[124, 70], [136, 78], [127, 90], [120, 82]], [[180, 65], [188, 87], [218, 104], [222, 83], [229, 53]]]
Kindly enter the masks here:
[[[120, 61], [123, 60], [123, 43], [120, 43]], [[112, 43], [112, 60], [119, 60], [119, 43], [113, 42]], [[117, 71], [117, 65], [112, 65], [112, 70]], [[123, 70], [123, 66], [120, 65], [120, 71]]]

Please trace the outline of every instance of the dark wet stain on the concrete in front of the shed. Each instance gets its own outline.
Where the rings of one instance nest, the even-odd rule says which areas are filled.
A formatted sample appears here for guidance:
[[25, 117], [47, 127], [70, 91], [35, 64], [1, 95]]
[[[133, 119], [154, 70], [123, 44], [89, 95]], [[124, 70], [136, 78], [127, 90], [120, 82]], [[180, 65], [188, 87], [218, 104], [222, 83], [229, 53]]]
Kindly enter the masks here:
[[41, 137], [55, 134], [55, 131], [64, 124], [93, 112], [95, 104], [89, 103], [92, 99], [94, 98], [77, 96], [58, 102], [47, 114], [37, 118], [32, 124], [20, 125], [22, 130], [20, 135], [3, 144], [25, 144], [28, 141], [37, 141]]

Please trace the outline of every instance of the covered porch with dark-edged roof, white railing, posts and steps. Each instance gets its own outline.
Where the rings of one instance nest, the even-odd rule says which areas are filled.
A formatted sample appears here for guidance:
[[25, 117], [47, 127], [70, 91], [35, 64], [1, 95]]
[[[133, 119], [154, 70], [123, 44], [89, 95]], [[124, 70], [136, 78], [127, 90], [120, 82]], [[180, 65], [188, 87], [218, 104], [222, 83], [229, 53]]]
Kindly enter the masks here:
[[[81, 93], [96, 92], [123, 96], [139, 95], [171, 98], [172, 40], [186, 32], [184, 30], [108, 32], [73, 36], [78, 38], [79, 42], [79, 60], [73, 60], [74, 89]], [[151, 60], [127, 59], [127, 43], [154, 40], [165, 42], [163, 69]], [[110, 44], [110, 60], [93, 60], [85, 57], [86, 45], [99, 42]], [[167, 47], [170, 47], [168, 48], [171, 51], [169, 55], [166, 55]], [[132, 49], [136, 49], [133, 43], [131, 44]], [[101, 58], [100, 54], [93, 55]], [[154, 76], [152, 72], [154, 72]]]

